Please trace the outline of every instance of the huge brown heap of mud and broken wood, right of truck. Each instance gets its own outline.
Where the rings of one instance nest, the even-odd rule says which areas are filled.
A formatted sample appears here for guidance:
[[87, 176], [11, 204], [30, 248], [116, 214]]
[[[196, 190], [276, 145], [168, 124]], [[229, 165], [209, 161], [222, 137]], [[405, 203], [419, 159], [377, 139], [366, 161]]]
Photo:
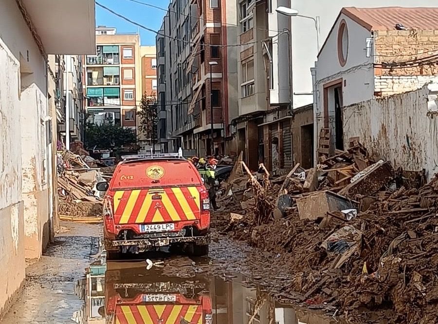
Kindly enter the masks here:
[[394, 170], [357, 142], [310, 170], [258, 174], [226, 182], [223, 205], [241, 210], [222, 233], [281, 254], [293, 276], [283, 293], [356, 323], [435, 323], [438, 177], [425, 184], [423, 171]]

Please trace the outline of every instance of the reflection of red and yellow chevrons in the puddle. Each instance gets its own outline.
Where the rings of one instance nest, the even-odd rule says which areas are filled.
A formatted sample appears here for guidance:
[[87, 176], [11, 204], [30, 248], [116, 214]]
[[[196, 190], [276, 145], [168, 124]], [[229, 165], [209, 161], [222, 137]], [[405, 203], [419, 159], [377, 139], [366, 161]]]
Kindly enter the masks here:
[[115, 324], [202, 324], [201, 305], [118, 306]]

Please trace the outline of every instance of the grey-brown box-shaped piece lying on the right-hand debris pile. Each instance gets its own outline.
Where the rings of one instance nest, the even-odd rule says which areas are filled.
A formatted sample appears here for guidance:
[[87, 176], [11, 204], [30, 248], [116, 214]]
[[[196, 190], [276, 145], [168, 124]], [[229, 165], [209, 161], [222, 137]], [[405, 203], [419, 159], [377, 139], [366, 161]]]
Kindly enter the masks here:
[[317, 191], [296, 199], [300, 219], [315, 220], [328, 212], [357, 209], [358, 203], [333, 191]]

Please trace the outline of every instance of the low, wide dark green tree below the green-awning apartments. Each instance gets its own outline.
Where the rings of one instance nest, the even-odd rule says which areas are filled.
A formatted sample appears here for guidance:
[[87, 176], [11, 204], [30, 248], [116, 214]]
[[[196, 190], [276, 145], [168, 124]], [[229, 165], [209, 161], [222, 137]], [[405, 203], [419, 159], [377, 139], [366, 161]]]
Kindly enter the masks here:
[[110, 150], [136, 143], [135, 133], [127, 127], [112, 123], [85, 125], [85, 146], [88, 149], [96, 147], [98, 150]]

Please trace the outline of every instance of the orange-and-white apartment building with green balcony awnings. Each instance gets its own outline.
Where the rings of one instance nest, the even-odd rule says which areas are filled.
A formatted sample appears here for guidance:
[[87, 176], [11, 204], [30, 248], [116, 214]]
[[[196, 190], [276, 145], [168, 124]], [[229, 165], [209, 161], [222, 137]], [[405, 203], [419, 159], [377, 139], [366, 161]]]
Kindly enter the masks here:
[[142, 99], [140, 35], [96, 28], [96, 54], [84, 59], [84, 95], [88, 121], [111, 122], [137, 132]]

